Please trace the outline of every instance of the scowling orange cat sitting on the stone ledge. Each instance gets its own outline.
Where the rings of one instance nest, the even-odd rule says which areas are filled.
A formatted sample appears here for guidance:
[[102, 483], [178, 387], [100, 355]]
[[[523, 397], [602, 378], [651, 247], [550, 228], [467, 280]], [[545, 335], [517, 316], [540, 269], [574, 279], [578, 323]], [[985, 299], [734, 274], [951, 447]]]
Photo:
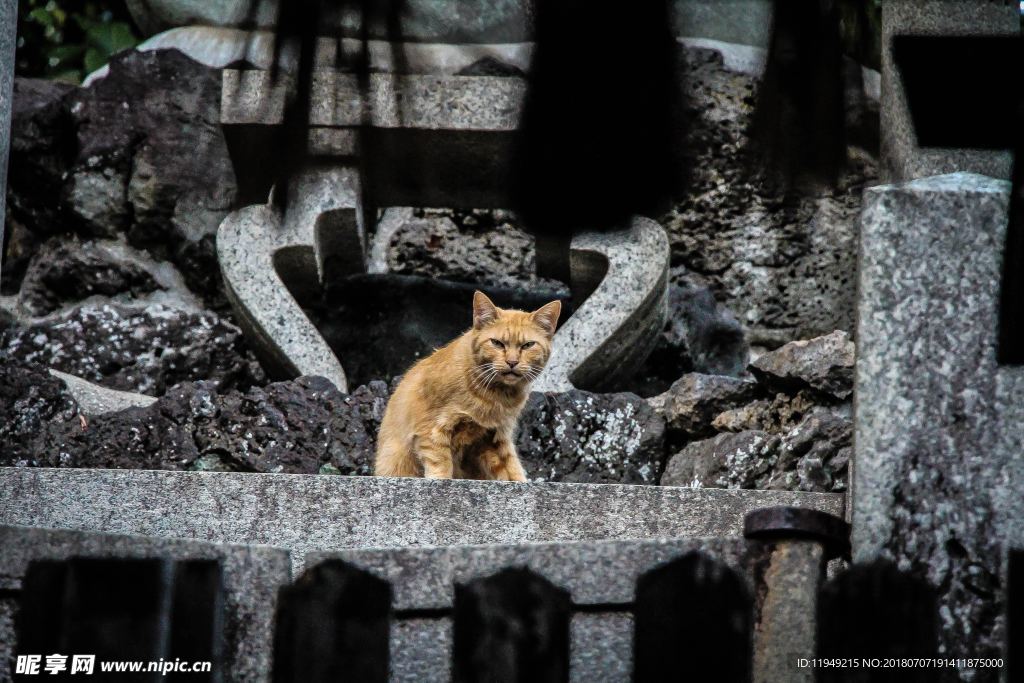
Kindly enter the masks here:
[[473, 328], [413, 366], [388, 401], [374, 473], [525, 481], [512, 439], [561, 308], [504, 310], [476, 292]]

